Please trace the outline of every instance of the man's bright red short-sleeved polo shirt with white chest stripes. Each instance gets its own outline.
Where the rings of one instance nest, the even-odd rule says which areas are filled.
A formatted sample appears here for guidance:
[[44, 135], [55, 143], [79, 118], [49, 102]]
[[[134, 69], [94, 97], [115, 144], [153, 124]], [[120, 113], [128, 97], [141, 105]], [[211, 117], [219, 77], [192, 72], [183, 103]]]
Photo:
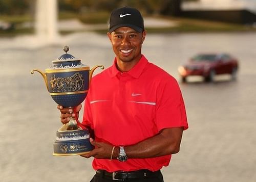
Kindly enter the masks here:
[[[114, 64], [93, 77], [84, 107], [83, 124], [90, 125], [96, 141], [115, 146], [134, 145], [163, 128], [188, 127], [180, 88], [173, 76], [142, 56], [128, 72]], [[94, 159], [95, 170], [157, 171], [168, 166], [171, 155], [126, 162]]]

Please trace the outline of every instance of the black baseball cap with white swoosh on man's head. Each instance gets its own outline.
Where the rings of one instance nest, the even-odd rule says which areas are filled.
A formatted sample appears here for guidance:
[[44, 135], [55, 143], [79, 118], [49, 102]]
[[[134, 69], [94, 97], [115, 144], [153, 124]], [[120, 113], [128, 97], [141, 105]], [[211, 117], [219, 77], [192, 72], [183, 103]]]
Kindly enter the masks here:
[[139, 10], [131, 7], [122, 7], [112, 11], [110, 15], [109, 32], [120, 27], [130, 27], [137, 32], [144, 30], [144, 20]]

